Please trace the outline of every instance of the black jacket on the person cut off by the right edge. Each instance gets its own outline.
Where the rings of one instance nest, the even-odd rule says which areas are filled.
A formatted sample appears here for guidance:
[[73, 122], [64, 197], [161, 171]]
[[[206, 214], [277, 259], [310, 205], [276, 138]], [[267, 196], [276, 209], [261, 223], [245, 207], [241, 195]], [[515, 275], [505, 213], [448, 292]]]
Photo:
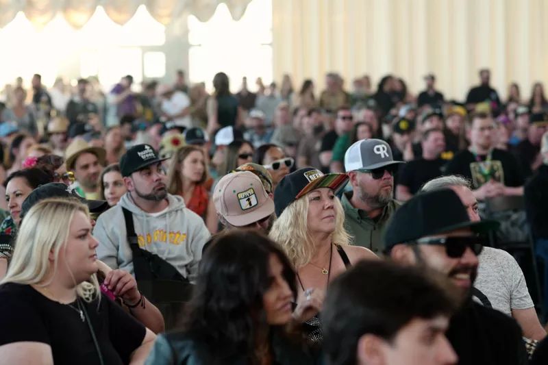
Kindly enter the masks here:
[[548, 165], [542, 164], [523, 188], [525, 213], [534, 238], [548, 239]]

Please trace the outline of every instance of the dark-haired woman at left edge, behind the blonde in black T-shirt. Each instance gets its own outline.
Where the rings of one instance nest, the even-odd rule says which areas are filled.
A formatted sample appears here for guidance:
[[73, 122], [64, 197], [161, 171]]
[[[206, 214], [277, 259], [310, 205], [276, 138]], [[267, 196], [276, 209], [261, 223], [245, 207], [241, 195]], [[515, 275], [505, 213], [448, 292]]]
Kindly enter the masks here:
[[8, 202], [10, 216], [5, 218], [0, 225], [0, 234], [15, 235], [15, 228], [21, 221], [21, 205], [32, 190], [40, 185], [53, 182], [53, 172], [39, 167], [23, 168], [8, 176], [3, 186], [5, 188], [5, 200]]

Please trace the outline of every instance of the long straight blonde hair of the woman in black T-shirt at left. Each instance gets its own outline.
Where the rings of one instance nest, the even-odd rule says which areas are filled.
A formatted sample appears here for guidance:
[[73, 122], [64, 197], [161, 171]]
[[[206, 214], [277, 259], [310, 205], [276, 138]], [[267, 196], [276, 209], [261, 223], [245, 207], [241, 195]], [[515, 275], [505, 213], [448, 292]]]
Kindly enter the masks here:
[[[36, 203], [21, 221], [12, 261], [1, 284], [40, 284], [51, 269], [54, 277], [60, 251], [66, 250], [70, 223], [76, 212], [84, 212], [90, 217], [88, 207], [75, 199], [53, 198]], [[53, 267], [49, 262], [52, 251], [55, 256]], [[85, 301], [90, 302], [99, 296], [97, 275], [92, 275], [89, 281], [75, 284], [78, 296]]]

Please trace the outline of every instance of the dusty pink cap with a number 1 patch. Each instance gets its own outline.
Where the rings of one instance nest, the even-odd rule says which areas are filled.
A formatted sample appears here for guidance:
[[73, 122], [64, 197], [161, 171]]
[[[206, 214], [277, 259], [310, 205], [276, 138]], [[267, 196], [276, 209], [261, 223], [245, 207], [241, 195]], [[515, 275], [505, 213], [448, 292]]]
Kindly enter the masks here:
[[274, 202], [260, 178], [249, 171], [223, 176], [213, 192], [215, 209], [228, 223], [244, 227], [274, 213]]

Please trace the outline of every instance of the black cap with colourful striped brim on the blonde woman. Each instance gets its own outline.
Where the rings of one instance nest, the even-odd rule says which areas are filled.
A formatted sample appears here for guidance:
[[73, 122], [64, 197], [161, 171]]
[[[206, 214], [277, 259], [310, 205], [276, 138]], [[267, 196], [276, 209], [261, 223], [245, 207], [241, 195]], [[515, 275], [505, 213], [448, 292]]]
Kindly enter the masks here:
[[346, 186], [349, 177], [347, 174], [324, 174], [313, 167], [303, 167], [284, 176], [274, 189], [274, 209], [276, 216], [296, 199], [318, 188], [331, 188], [335, 194]]

